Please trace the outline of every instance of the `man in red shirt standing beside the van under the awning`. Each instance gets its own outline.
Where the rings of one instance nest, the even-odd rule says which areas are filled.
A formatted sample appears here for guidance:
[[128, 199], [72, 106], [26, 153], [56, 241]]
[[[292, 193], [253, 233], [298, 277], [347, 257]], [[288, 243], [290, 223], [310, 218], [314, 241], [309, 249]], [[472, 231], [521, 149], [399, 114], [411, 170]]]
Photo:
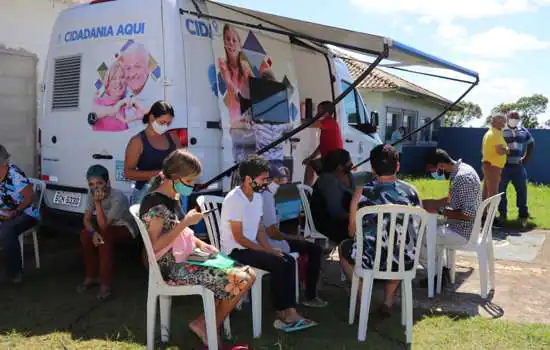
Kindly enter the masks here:
[[321, 129], [321, 136], [319, 137], [319, 146], [317, 146], [315, 151], [303, 161], [303, 164], [306, 166], [304, 184], [308, 186], [313, 185], [315, 173], [318, 174], [322, 170], [323, 158], [326, 157], [330, 151], [344, 148], [340, 125], [338, 125], [338, 121], [332, 117], [331, 110], [332, 103], [330, 101], [319, 103], [317, 106], [317, 113], [324, 112], [324, 114], [318, 121], [311, 125], [313, 128]]

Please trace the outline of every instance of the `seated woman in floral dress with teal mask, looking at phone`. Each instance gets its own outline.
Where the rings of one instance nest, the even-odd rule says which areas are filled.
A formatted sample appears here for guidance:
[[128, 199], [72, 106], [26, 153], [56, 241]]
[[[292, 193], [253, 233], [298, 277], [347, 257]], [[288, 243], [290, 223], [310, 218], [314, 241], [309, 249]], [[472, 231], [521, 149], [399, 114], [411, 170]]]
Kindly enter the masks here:
[[[187, 258], [196, 248], [217, 253], [218, 250], [194, 236], [189, 226], [197, 224], [201, 213], [190, 210], [179, 220], [178, 197], [189, 196], [201, 173], [200, 161], [191, 153], [178, 149], [163, 162], [162, 172], [151, 180], [150, 193], [141, 202], [140, 217], [144, 221], [161, 273], [171, 283], [203, 285], [214, 292], [216, 326], [219, 330], [225, 317], [235, 308], [241, 296], [255, 281], [254, 270], [235, 263], [217, 268], [192, 265]], [[207, 344], [204, 314], [189, 328]]]

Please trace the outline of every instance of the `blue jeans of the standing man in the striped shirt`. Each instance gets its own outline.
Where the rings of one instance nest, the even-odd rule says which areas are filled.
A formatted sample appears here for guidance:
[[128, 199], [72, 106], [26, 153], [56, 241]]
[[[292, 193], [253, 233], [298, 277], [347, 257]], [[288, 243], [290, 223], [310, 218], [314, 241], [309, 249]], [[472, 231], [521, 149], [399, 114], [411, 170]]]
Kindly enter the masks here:
[[519, 217], [529, 217], [529, 210], [527, 209], [527, 171], [521, 164], [507, 164], [504, 169], [502, 169], [502, 177], [498, 187], [499, 193], [504, 192], [504, 196], [502, 196], [502, 200], [498, 206], [500, 215], [506, 216], [506, 210], [508, 208], [506, 189], [510, 182], [512, 182], [512, 185], [516, 189], [516, 205], [519, 210]]

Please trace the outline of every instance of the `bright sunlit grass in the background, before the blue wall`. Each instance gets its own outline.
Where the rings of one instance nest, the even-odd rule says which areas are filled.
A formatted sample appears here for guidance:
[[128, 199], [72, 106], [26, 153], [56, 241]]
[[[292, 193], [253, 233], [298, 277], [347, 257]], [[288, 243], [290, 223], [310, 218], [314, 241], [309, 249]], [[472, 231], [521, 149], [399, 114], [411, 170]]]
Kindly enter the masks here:
[[[414, 184], [422, 198], [441, 198], [449, 191], [449, 181], [406, 178], [406, 181]], [[516, 207], [516, 191], [510, 185], [508, 187], [508, 219], [510, 227], [519, 228], [516, 218], [518, 210]], [[532, 219], [529, 220], [530, 228], [550, 229], [550, 186], [535, 185], [530, 183], [527, 188], [527, 204]]]

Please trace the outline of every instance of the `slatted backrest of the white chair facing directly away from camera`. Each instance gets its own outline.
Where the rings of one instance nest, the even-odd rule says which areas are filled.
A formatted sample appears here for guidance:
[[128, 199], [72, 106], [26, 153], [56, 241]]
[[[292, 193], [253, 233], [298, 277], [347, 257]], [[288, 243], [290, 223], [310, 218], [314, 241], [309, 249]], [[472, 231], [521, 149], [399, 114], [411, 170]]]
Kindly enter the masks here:
[[[419, 252], [422, 246], [422, 237], [426, 232], [426, 227], [428, 223], [428, 212], [420, 207], [413, 207], [407, 205], [375, 205], [375, 206], [366, 206], [357, 211], [356, 215], [356, 242], [357, 242], [357, 252], [355, 257], [355, 266], [362, 266], [363, 258], [363, 219], [366, 215], [376, 215], [377, 229], [376, 229], [376, 250], [375, 258], [372, 271], [376, 275], [377, 273], [383, 274], [403, 274], [405, 272], [416, 271], [418, 265]], [[384, 217], [389, 216], [389, 229], [387, 236], [387, 246], [386, 246], [386, 270], [380, 270], [380, 263], [382, 259], [382, 246], [384, 242]], [[400, 218], [400, 222], [398, 222]], [[414, 266], [412, 270], [405, 269], [405, 244], [399, 244], [399, 255], [398, 255], [398, 270], [392, 271], [393, 266], [393, 252], [396, 242], [406, 242], [408, 226], [411, 222], [411, 218], [416, 218], [418, 221], [413, 221], [413, 224], [418, 224], [418, 232], [416, 237], [415, 252], [416, 256], [414, 258]], [[397, 231], [398, 224], [402, 225], [402, 230], [399, 233]], [[400, 234], [399, 237], [396, 237], [396, 234]]]

